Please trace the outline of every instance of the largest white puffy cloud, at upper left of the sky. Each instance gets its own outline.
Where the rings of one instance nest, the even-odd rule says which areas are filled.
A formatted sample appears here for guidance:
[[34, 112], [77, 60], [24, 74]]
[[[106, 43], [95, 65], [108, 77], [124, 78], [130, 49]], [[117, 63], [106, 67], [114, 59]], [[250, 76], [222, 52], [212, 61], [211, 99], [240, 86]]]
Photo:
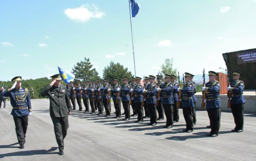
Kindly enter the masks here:
[[102, 18], [105, 14], [104, 12], [99, 11], [99, 9], [93, 4], [93, 9], [89, 10], [88, 5], [82, 5], [78, 8], [73, 9], [65, 9], [64, 13], [68, 16], [71, 20], [76, 20], [78, 22], [86, 22], [91, 18]]

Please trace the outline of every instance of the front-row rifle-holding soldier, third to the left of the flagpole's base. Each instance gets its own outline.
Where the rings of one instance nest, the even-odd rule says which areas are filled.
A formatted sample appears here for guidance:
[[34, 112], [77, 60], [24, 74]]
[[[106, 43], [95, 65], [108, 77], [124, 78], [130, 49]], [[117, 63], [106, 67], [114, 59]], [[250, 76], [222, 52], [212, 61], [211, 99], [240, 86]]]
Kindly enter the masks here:
[[107, 103], [107, 100], [110, 99], [110, 98], [108, 98], [108, 91], [110, 91], [110, 87], [109, 87], [108, 82], [109, 81], [107, 79], [104, 79], [104, 85], [101, 88], [101, 98], [102, 98], [103, 105], [104, 105], [105, 111], [106, 111], [105, 117], [110, 116], [109, 104]]

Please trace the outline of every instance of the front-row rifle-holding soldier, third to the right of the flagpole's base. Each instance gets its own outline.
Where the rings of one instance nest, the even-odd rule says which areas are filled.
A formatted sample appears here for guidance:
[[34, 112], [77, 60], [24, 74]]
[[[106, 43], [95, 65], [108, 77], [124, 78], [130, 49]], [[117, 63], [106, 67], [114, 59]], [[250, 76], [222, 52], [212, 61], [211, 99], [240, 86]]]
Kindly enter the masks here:
[[172, 128], [173, 127], [173, 90], [174, 84], [171, 82], [172, 77], [168, 74], [165, 74], [164, 81], [161, 85], [161, 88], [157, 88], [156, 91], [161, 93], [162, 104], [164, 108], [164, 113], [166, 116], [166, 125], [163, 128]]

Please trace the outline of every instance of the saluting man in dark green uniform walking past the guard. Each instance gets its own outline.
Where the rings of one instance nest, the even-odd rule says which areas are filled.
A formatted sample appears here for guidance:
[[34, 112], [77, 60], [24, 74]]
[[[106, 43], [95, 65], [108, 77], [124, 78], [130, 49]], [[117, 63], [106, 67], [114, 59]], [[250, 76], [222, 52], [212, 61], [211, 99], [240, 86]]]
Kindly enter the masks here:
[[52, 82], [41, 91], [42, 96], [48, 95], [50, 100], [50, 116], [54, 126], [54, 133], [59, 147], [59, 155], [64, 152], [64, 138], [69, 128], [68, 115], [71, 114], [72, 107], [69, 101], [66, 86], [60, 84], [60, 74], [51, 76]]

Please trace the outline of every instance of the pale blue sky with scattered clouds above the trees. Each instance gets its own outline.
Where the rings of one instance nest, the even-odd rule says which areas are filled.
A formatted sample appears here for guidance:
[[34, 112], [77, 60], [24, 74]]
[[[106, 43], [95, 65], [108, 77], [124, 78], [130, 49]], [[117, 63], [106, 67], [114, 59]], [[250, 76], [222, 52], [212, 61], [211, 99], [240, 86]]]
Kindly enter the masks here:
[[[222, 53], [256, 47], [256, 0], [138, 0], [132, 18], [137, 76], [166, 58], [178, 71], [222, 71]], [[50, 77], [90, 58], [134, 73], [128, 0], [1, 1], [0, 80]]]

